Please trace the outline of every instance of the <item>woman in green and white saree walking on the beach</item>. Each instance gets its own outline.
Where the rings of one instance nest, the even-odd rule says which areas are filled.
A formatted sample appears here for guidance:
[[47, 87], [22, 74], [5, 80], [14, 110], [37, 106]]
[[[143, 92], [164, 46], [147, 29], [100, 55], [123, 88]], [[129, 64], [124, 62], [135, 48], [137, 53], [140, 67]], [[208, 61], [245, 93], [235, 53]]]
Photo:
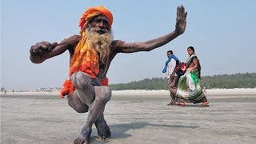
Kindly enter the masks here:
[[[185, 102], [202, 102], [200, 107], [209, 106], [200, 86], [201, 66], [197, 55], [194, 53], [194, 47], [188, 47], [187, 53], [190, 57], [186, 61], [186, 73], [178, 81], [177, 98], [181, 98]], [[178, 105], [185, 106], [185, 102], [178, 102]]]

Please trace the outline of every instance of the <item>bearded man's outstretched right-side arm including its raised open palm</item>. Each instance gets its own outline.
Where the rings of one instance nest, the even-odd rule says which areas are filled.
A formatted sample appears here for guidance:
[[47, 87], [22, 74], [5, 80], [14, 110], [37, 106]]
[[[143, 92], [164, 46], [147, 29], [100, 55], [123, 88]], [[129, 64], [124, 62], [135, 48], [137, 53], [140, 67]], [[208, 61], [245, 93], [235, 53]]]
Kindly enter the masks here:
[[150, 51], [165, 45], [166, 43], [177, 38], [180, 34], [183, 34], [186, 30], [186, 14], [183, 6], [177, 7], [177, 18], [175, 30], [170, 34], [166, 34], [159, 38], [154, 38], [146, 42], [123, 42], [115, 41], [114, 45], [119, 53], [134, 53], [138, 51]]

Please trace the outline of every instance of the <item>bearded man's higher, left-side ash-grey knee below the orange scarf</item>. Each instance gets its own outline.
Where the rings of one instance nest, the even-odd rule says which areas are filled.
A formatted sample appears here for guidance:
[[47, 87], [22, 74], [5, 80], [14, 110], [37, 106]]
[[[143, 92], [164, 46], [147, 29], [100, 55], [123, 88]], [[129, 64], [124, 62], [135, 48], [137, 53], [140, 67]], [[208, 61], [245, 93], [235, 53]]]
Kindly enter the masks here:
[[91, 85], [90, 75], [83, 73], [81, 71], [71, 75], [71, 81], [76, 88], [83, 89], [88, 85]]

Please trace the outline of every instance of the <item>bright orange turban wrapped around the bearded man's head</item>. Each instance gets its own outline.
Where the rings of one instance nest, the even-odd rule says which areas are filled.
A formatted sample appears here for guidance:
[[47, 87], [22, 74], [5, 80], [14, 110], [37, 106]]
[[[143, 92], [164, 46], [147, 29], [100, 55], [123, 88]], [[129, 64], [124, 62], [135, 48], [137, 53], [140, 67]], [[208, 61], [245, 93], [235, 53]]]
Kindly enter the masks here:
[[106, 10], [103, 6], [94, 6], [89, 7], [84, 14], [82, 14], [82, 17], [80, 18], [79, 25], [81, 27], [81, 30], [84, 28], [84, 25], [87, 25], [87, 22], [90, 21], [91, 18], [94, 18], [95, 16], [99, 14], [104, 14], [106, 18], [110, 22], [110, 29], [113, 23], [113, 15], [111, 14], [110, 10]]

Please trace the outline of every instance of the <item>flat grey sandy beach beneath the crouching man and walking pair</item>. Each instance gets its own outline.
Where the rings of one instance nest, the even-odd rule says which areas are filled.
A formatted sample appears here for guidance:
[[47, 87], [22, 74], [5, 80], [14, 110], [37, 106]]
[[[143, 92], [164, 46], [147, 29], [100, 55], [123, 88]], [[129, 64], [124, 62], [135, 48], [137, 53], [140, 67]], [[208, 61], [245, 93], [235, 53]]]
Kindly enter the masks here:
[[[256, 143], [256, 89], [207, 90], [209, 107], [166, 106], [167, 90], [112, 92], [105, 118], [112, 138], [90, 143]], [[1, 94], [1, 143], [72, 143], [86, 114], [57, 92]]]

